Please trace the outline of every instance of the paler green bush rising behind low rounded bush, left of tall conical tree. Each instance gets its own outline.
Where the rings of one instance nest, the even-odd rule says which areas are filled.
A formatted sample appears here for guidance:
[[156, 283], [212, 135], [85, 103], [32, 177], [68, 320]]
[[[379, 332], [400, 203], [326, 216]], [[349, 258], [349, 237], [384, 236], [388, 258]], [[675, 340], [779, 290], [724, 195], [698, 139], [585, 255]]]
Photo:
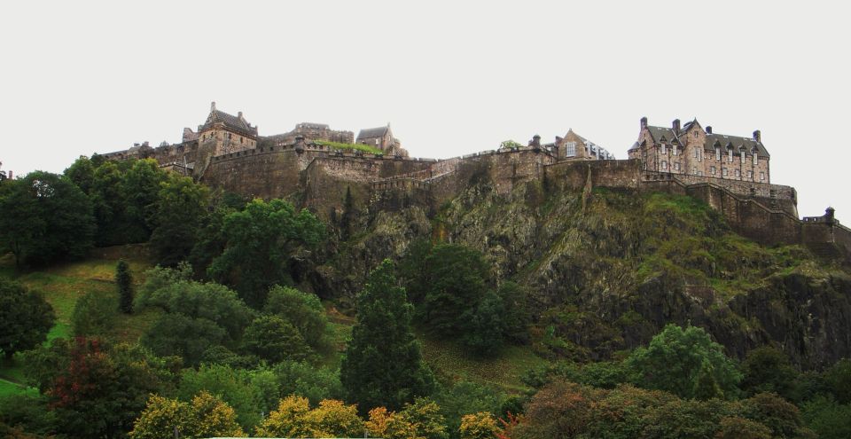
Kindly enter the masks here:
[[332, 349], [331, 326], [316, 294], [304, 293], [289, 286], [273, 286], [269, 290], [263, 312], [281, 317], [293, 325], [316, 352]]

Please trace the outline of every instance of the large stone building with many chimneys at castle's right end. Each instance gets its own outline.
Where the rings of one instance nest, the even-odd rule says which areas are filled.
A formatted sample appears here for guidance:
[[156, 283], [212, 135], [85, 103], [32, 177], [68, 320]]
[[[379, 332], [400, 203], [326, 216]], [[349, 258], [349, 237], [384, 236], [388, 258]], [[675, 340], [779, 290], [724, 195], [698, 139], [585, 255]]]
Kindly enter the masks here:
[[717, 134], [704, 129], [697, 119], [671, 127], [654, 127], [641, 118], [638, 140], [628, 151], [630, 159], [642, 161], [653, 172], [707, 176], [769, 184], [769, 152], [759, 129], [753, 137]]

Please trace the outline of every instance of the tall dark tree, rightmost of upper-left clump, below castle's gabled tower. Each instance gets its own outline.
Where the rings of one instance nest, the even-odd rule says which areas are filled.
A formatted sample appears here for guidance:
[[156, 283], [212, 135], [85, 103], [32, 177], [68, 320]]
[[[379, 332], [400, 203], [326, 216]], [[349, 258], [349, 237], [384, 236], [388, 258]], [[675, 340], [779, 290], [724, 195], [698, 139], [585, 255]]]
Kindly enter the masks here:
[[151, 235], [151, 247], [160, 264], [175, 266], [191, 254], [208, 204], [207, 187], [188, 176], [169, 174], [160, 184]]

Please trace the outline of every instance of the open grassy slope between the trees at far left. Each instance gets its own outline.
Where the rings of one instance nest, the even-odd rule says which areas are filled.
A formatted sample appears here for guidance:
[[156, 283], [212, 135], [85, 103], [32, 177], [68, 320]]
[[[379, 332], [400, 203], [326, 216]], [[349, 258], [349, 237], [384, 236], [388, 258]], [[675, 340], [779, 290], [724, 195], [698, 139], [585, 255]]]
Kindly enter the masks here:
[[[121, 252], [114, 252], [122, 256]], [[135, 252], [134, 252], [135, 253]], [[126, 257], [135, 283], [143, 280], [142, 272], [152, 266], [138, 256]], [[67, 337], [71, 334], [71, 316], [74, 304], [83, 294], [90, 291], [98, 294], [115, 294], [113, 274], [116, 259], [91, 258], [74, 263], [62, 263], [41, 270], [29, 270], [17, 273], [11, 257], [0, 258], [0, 276], [15, 278], [27, 287], [43, 294], [56, 312], [56, 325], [48, 333], [48, 340]], [[121, 341], [136, 341], [156, 318], [156, 312], [119, 317], [112, 335]], [[24, 381], [23, 370], [18, 357], [12, 361], [0, 362], [0, 396], [20, 393], [26, 388], [20, 385]]]

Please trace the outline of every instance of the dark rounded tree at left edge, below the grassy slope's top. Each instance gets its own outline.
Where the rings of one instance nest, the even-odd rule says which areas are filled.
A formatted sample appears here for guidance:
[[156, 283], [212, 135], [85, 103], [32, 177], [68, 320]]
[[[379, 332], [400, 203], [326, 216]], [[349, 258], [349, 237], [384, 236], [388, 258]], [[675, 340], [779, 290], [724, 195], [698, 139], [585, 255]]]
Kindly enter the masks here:
[[6, 358], [47, 340], [56, 316], [40, 294], [0, 278], [0, 350]]

